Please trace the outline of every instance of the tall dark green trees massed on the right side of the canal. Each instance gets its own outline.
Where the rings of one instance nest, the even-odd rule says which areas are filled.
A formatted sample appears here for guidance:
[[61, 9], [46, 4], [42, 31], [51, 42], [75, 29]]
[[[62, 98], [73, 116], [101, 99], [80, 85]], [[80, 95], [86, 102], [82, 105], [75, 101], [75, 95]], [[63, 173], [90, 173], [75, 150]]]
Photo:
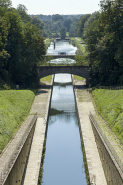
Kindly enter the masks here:
[[85, 40], [91, 85], [123, 84], [123, 2], [100, 1], [100, 11], [82, 16], [77, 34]]

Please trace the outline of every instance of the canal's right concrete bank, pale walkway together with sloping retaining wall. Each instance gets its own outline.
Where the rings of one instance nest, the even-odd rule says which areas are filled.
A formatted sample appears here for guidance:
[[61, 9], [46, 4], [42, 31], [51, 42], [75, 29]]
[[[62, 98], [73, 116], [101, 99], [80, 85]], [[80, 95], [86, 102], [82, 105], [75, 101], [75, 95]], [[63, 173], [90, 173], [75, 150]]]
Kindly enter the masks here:
[[[95, 124], [94, 122], [96, 120], [91, 119], [93, 117], [90, 116], [91, 114], [89, 112], [94, 117], [96, 117], [96, 112], [90, 94], [81, 81], [74, 81], [74, 83], [76, 106], [80, 121], [80, 134], [85, 148], [90, 183], [94, 185], [122, 185], [122, 163], [120, 167], [120, 163], [117, 161], [117, 159], [120, 160], [120, 156], [116, 154], [119, 146], [111, 139], [112, 134], [108, 132], [108, 135], [107, 130], [105, 131], [106, 125], [100, 128], [100, 125], [102, 125], [100, 120]], [[76, 86], [76, 84], [79, 84], [79, 86]], [[100, 129], [103, 129], [103, 135], [106, 139], [101, 134]]]

